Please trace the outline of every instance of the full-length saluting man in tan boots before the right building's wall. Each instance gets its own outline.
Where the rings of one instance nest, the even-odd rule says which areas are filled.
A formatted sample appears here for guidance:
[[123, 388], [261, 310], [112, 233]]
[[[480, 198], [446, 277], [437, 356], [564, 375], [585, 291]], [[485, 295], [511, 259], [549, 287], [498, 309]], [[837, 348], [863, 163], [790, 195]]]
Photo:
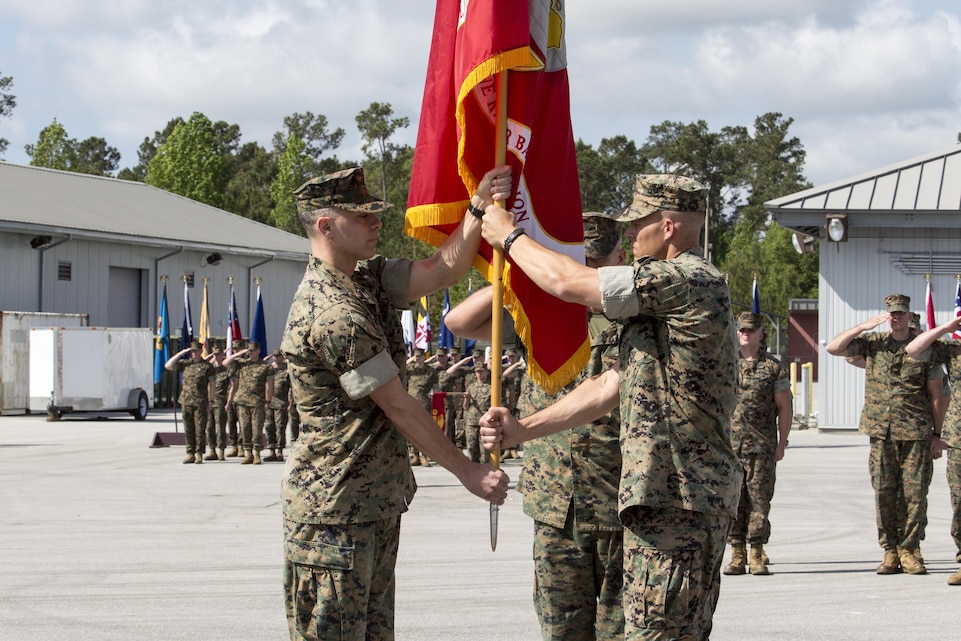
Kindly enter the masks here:
[[[874, 488], [878, 543], [884, 558], [878, 574], [924, 574], [919, 558], [927, 520], [928, 470], [935, 431], [934, 402], [941, 398], [941, 366], [908, 356], [911, 299], [892, 294], [887, 312], [838, 334], [828, 343], [835, 356], [865, 359], [864, 407], [860, 431], [870, 437], [868, 469]], [[885, 320], [890, 332], [868, 332]], [[867, 333], [865, 333], [867, 332]], [[940, 426], [937, 426], [940, 428]], [[903, 512], [898, 501], [903, 499]]]

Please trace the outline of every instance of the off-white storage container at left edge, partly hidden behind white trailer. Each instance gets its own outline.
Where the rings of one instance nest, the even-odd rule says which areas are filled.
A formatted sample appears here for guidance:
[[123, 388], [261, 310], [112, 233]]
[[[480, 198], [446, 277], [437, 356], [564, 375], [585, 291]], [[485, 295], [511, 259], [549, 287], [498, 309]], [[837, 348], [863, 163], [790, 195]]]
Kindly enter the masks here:
[[30, 328], [89, 324], [86, 314], [0, 311], [0, 414], [29, 411]]

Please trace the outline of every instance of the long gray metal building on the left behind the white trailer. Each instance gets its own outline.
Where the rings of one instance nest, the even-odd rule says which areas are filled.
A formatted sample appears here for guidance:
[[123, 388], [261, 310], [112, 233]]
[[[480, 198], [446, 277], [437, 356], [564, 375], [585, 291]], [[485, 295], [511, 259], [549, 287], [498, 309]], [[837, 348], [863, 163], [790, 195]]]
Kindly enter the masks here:
[[226, 336], [233, 281], [250, 333], [259, 281], [277, 347], [306, 267], [307, 240], [144, 183], [0, 163], [0, 309], [88, 314], [90, 325], [156, 328], [161, 277], [179, 335], [184, 282], [200, 323]]

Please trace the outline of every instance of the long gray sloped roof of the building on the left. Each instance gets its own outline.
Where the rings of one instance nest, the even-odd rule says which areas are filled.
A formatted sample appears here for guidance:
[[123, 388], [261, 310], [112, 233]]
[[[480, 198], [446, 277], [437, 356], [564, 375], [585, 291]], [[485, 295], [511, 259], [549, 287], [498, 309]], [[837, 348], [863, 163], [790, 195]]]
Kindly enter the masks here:
[[0, 162], [0, 229], [303, 260], [307, 239], [116, 178]]

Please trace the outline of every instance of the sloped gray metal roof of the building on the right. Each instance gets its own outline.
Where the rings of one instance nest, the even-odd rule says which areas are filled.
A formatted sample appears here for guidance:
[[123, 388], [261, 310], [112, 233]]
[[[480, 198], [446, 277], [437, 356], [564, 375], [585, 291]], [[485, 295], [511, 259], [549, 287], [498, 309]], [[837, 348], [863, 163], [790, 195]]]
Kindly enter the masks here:
[[961, 227], [961, 145], [764, 203], [782, 227], [823, 236], [826, 214], [850, 227]]

